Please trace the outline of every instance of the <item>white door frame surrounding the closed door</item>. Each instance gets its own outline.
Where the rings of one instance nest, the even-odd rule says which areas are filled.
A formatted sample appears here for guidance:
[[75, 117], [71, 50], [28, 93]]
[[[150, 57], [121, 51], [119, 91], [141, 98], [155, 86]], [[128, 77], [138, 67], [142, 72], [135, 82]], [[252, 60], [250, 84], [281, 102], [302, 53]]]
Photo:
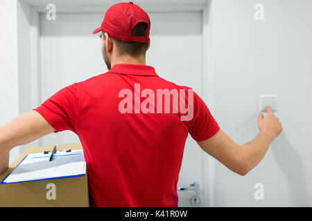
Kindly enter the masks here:
[[[28, 4], [26, 0], [17, 0], [19, 3], [27, 5], [30, 8], [30, 51], [28, 54], [31, 57], [31, 82], [32, 82], [32, 97], [29, 102], [32, 106], [39, 106], [42, 104], [42, 86], [41, 86], [41, 67], [40, 67], [40, 14], [45, 13], [45, 5], [38, 6], [36, 4]], [[214, 95], [213, 93], [213, 71], [212, 71], [212, 57], [211, 57], [211, 0], [205, 0], [205, 3], [190, 3], [189, 4], [170, 4], [160, 3], [157, 5], [144, 5], [144, 10], [147, 12], [202, 12], [202, 99], [209, 106], [209, 110], [214, 114]], [[107, 5], [106, 5], [107, 6]], [[109, 6], [107, 6], [108, 8]], [[98, 6], [76, 6], [75, 4], [69, 6], [57, 6], [57, 13], [94, 13], [103, 12], [104, 7]], [[17, 18], [17, 22], [19, 22]], [[37, 145], [42, 145], [42, 139], [37, 141]], [[203, 199], [205, 206], [216, 205], [216, 160], [202, 151], [202, 167], [203, 167], [203, 185], [205, 189], [205, 198]]]

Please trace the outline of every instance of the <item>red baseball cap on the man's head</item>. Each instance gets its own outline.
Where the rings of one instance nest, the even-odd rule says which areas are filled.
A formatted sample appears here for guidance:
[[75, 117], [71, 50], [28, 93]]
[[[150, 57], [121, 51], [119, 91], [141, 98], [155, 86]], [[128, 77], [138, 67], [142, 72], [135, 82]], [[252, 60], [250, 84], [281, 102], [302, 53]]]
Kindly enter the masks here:
[[[144, 37], [132, 35], [133, 29], [139, 22], [147, 23]], [[150, 17], [132, 1], [129, 3], [116, 3], [107, 10], [101, 27], [96, 28], [93, 33], [96, 34], [101, 30], [116, 39], [148, 44], [150, 40]]]

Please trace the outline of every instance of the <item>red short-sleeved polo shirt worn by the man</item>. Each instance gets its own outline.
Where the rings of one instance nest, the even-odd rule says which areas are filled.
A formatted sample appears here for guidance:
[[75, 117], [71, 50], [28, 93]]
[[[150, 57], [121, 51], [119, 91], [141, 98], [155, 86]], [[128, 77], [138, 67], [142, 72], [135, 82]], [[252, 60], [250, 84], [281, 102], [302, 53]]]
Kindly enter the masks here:
[[[177, 180], [188, 133], [197, 141], [207, 140], [219, 126], [196, 93], [191, 119], [182, 120], [185, 112], [174, 112], [173, 104], [165, 113], [165, 96], [157, 103], [159, 89], [187, 90], [185, 106], [192, 105], [187, 96], [191, 88], [162, 79], [153, 67], [116, 64], [107, 73], [62, 88], [33, 109], [55, 133], [70, 130], [78, 135], [92, 206], [177, 206]], [[133, 105], [125, 104], [125, 97], [132, 98]], [[148, 97], [155, 106], [144, 103]]]

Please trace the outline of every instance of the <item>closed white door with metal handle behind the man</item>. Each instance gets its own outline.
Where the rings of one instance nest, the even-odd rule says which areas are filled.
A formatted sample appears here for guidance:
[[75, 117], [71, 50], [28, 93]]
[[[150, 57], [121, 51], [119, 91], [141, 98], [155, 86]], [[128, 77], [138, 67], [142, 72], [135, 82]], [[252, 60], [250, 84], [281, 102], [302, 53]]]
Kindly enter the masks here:
[[[150, 50], [147, 65], [175, 84], [190, 86], [202, 95], [202, 12], [148, 12], [151, 21]], [[105, 73], [101, 55], [101, 40], [92, 31], [101, 25], [103, 13], [58, 14], [56, 21], [41, 22], [42, 102], [64, 86]], [[71, 131], [52, 133], [42, 138], [43, 145], [79, 142]], [[203, 157], [208, 157], [192, 140], [187, 139], [177, 186], [187, 187], [197, 182], [196, 191], [178, 191], [179, 206], [205, 205], [203, 188]], [[195, 186], [196, 187], [196, 186]], [[193, 187], [194, 188], [194, 187]]]

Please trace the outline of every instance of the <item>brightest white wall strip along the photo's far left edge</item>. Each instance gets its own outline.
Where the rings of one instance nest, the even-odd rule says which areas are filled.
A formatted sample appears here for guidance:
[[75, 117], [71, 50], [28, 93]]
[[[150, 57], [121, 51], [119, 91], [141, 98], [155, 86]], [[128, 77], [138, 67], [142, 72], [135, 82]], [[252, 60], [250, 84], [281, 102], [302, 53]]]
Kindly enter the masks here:
[[[19, 115], [17, 1], [1, 1], [0, 26], [0, 125], [2, 125]], [[10, 162], [18, 155], [19, 148], [13, 148], [10, 152]]]

